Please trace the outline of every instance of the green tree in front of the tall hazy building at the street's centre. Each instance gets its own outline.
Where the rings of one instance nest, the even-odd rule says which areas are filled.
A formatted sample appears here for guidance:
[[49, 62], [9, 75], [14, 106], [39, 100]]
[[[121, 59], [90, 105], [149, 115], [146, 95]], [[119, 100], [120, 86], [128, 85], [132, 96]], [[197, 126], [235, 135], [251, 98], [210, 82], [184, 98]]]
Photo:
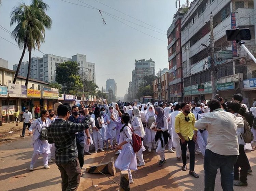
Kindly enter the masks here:
[[145, 75], [143, 77], [142, 83], [140, 84], [140, 87], [137, 92], [138, 99], [140, 99], [140, 97], [145, 95], [154, 96], [153, 82], [155, 79], [157, 79], [157, 77], [154, 75]]

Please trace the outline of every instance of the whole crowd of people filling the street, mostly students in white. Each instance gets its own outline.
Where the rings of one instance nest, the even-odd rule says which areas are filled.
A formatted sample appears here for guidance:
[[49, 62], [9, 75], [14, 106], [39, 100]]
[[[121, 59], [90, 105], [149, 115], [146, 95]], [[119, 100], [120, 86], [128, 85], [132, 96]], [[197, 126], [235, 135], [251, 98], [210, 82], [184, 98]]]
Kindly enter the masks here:
[[[35, 161], [42, 154], [45, 169], [55, 160], [61, 173], [62, 190], [75, 190], [83, 176], [84, 155], [92, 155], [91, 150], [97, 153], [110, 149], [118, 155], [115, 167], [128, 171], [131, 184], [131, 170], [145, 166], [146, 149], [159, 154], [158, 166], [166, 162], [167, 150], [175, 153], [178, 161], [182, 159], [182, 171], [187, 170], [189, 159], [189, 174], [195, 178], [199, 178], [195, 172], [195, 155], [202, 154], [207, 191], [214, 190], [217, 169], [221, 172], [223, 190], [233, 190], [233, 185], [247, 186], [247, 174], [252, 170], [244, 150], [253, 150], [256, 141], [256, 107], [250, 108], [250, 112], [245, 104], [241, 105], [242, 100], [242, 95], [234, 94], [227, 102], [215, 95], [203, 103], [108, 105], [104, 101], [93, 107], [56, 103], [54, 110], [41, 110], [41, 117], [29, 126], [34, 149], [29, 169], [34, 169]], [[26, 125], [30, 117], [24, 113]], [[251, 143], [244, 140], [246, 127], [254, 136]], [[133, 134], [143, 140], [136, 152]]]

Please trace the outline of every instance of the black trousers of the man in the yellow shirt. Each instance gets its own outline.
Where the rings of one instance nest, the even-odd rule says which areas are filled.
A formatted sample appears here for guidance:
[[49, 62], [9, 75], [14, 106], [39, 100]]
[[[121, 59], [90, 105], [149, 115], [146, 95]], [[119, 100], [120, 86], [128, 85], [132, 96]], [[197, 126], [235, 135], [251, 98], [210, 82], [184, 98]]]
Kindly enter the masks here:
[[[181, 142], [181, 140], [180, 140]], [[189, 155], [190, 155], [190, 161], [189, 161], [189, 170], [194, 171], [195, 169], [195, 142], [193, 140], [188, 140], [186, 141], [185, 144], [181, 143], [181, 157], [182, 157], [182, 162], [183, 165], [187, 164], [187, 145], [188, 145], [188, 150], [189, 150]]]

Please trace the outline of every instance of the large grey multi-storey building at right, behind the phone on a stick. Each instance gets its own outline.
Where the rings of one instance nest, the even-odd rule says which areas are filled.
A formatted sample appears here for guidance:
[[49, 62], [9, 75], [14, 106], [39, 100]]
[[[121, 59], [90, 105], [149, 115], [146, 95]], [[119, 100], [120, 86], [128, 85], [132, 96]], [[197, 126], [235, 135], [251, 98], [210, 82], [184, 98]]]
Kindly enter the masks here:
[[[214, 51], [214, 66], [217, 69], [217, 92], [231, 99], [233, 93], [242, 93], [244, 103], [249, 105], [256, 97], [255, 63], [243, 49], [226, 40], [225, 31], [233, 27], [249, 28], [252, 40], [245, 41], [251, 52], [255, 52], [253, 0], [194, 0], [181, 21], [181, 47], [184, 82], [184, 100], [211, 99], [211, 59]], [[214, 49], [210, 48], [210, 15], [213, 16]], [[230, 54], [221, 58], [222, 54]], [[231, 56], [231, 57], [230, 57]], [[248, 80], [244, 80], [248, 79]], [[256, 80], [256, 79], [255, 79]], [[204, 84], [200, 95], [198, 85]], [[243, 86], [244, 84], [244, 86]], [[245, 93], [247, 90], [253, 90]]]

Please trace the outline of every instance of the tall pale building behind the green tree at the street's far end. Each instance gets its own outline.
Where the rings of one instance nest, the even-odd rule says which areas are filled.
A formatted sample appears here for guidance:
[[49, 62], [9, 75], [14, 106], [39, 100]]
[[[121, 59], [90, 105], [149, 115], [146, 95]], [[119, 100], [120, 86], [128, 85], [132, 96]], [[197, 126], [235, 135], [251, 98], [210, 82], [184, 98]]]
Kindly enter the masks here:
[[[131, 90], [128, 94], [131, 94], [132, 99], [137, 98], [137, 92], [142, 83], [143, 77], [145, 75], [155, 75], [155, 62], [150, 58], [149, 60], [141, 59], [135, 60], [135, 69], [132, 70], [132, 83]], [[130, 87], [130, 83], [129, 83]], [[137, 98], [140, 99], [140, 98]]]

